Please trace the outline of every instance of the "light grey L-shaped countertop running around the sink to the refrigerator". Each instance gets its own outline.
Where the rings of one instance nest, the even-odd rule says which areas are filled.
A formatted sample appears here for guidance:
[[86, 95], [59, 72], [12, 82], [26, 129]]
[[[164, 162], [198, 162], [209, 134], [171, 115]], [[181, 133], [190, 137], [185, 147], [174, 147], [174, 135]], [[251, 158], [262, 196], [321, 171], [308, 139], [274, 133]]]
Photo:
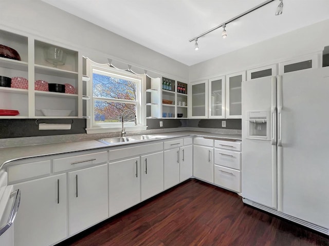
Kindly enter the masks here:
[[77, 152], [84, 150], [111, 148], [114, 146], [133, 145], [133, 144], [140, 144], [140, 143], [151, 142], [155, 140], [165, 140], [165, 139], [176, 138], [176, 137], [205, 136], [205, 137], [241, 140], [241, 135], [198, 132], [198, 131], [177, 131], [177, 132], [157, 133], [151, 135], [160, 138], [134, 141], [134, 142], [120, 142], [111, 145], [103, 144], [102, 142], [97, 140], [82, 140], [82, 141], [72, 141], [72, 142], [60, 142], [56, 144], [2, 148], [0, 149], [0, 170], [6, 163], [13, 160], [19, 160], [19, 159], [25, 159], [31, 157], [40, 157], [46, 155], [54, 155], [54, 154], [63, 154], [63, 153], [70, 153], [70, 152]]

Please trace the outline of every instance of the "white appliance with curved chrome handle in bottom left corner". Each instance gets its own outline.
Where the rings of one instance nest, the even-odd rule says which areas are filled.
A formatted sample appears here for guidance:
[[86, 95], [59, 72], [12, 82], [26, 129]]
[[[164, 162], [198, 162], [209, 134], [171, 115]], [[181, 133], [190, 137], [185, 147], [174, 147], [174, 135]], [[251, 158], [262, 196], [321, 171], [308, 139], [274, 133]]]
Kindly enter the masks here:
[[21, 191], [7, 186], [7, 172], [0, 172], [0, 245], [14, 245], [14, 220], [20, 207]]

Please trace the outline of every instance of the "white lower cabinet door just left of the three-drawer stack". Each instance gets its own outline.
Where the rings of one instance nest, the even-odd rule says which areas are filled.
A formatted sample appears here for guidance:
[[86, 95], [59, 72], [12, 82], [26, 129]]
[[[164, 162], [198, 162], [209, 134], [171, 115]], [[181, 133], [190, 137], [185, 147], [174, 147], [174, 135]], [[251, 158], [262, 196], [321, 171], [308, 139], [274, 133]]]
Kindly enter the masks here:
[[213, 148], [204, 146], [194, 146], [193, 176], [208, 182], [213, 182], [213, 171]]

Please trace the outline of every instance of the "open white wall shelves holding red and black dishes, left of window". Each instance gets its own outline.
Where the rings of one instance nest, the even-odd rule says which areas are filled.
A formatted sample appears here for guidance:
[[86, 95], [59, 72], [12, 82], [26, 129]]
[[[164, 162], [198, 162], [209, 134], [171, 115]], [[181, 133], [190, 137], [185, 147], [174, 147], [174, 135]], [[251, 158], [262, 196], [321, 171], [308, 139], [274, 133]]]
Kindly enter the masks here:
[[[0, 30], [0, 43], [15, 49], [21, 56], [21, 60], [0, 57], [1, 75], [21, 77], [21, 80], [13, 81], [12, 87], [0, 87], [0, 108], [18, 110], [20, 114], [0, 118], [82, 117], [82, 76], [79, 76], [82, 56], [77, 50], [5, 30]], [[52, 55], [54, 49], [63, 52], [65, 63], [59, 64], [55, 59], [48, 59], [45, 54], [49, 49], [52, 49]], [[24, 82], [21, 82], [22, 78]], [[49, 92], [48, 84], [61, 84], [70, 88], [70, 93], [66, 89], [66, 93]], [[61, 111], [44, 113], [42, 110]]]

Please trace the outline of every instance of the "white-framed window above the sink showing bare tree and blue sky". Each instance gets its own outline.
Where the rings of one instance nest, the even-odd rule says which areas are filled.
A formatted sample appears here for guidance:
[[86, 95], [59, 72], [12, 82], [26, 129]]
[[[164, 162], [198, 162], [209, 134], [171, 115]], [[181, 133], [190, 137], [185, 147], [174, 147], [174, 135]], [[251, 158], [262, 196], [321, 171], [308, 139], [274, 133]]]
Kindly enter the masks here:
[[87, 59], [87, 95], [91, 100], [87, 107], [87, 133], [119, 132], [122, 116], [126, 131], [146, 130], [142, 105], [144, 75], [111, 68], [108, 64], [96, 64]]

